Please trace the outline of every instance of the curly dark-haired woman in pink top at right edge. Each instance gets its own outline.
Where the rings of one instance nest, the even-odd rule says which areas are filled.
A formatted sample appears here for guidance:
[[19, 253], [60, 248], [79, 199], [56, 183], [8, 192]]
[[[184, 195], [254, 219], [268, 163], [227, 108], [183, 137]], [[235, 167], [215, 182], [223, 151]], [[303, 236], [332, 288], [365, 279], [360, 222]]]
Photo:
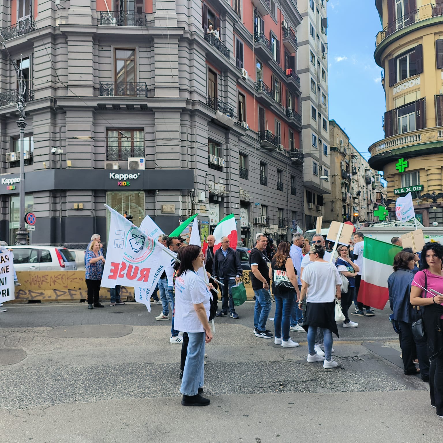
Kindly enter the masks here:
[[[414, 276], [411, 288], [411, 304], [424, 307], [422, 315], [424, 335], [427, 340], [429, 390], [431, 406], [443, 418], [443, 246], [426, 243], [421, 251], [420, 269]], [[436, 291], [438, 294], [435, 294]]]

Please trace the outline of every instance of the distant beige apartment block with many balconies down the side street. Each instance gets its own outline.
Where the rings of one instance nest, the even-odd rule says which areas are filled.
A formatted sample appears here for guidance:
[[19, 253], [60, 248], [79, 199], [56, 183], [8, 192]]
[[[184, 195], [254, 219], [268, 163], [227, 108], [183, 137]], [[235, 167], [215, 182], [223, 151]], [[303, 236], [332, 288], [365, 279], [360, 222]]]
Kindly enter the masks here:
[[333, 220], [374, 221], [373, 211], [383, 198], [380, 174], [369, 167], [335, 120], [329, 120], [329, 135], [331, 193], [324, 197], [325, 227]]

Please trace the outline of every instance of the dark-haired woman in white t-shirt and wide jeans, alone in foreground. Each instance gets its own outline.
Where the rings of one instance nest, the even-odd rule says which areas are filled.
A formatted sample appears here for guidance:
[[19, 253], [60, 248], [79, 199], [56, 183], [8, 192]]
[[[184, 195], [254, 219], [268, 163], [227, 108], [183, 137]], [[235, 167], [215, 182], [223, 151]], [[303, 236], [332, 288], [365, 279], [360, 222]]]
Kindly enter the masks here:
[[202, 249], [188, 245], [180, 254], [175, 277], [174, 327], [187, 332], [189, 344], [180, 392], [183, 406], [206, 406], [201, 396], [204, 381], [205, 342], [212, 340], [209, 326], [210, 291], [197, 272], [205, 264]]

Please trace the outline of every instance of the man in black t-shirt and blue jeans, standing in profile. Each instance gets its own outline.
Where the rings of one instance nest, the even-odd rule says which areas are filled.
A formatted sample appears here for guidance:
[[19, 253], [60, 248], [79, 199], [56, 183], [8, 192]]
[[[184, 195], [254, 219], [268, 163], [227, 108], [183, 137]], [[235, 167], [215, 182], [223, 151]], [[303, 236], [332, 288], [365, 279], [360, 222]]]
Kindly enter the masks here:
[[249, 264], [252, 270], [251, 283], [255, 294], [254, 334], [260, 338], [272, 338], [272, 334], [266, 329], [266, 321], [271, 311], [269, 259], [265, 252], [267, 245], [268, 238], [264, 234], [259, 234], [255, 248], [249, 253]]

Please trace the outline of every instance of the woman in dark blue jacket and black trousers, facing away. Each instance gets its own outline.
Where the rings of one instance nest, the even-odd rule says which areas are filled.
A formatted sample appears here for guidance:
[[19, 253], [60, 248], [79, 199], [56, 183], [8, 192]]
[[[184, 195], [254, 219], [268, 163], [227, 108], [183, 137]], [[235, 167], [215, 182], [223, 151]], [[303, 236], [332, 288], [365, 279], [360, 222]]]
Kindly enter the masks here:
[[[411, 283], [414, 280], [414, 254], [400, 251], [394, 257], [394, 272], [388, 278], [389, 305], [394, 313], [394, 321], [400, 329], [399, 340], [405, 375], [421, 373], [424, 381], [429, 379], [429, 359], [426, 354], [426, 340], [414, 338], [412, 323], [416, 315], [409, 303]], [[420, 369], [415, 366], [418, 358]]]

